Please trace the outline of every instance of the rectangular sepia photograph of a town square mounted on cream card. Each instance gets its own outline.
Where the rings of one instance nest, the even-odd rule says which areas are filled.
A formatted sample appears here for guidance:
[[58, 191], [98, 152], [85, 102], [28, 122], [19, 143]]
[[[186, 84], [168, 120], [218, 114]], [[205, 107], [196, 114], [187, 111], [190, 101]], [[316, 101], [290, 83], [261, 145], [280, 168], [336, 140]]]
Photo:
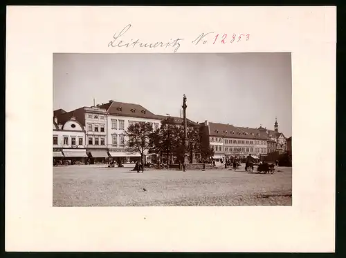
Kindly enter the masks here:
[[53, 54], [53, 206], [291, 206], [291, 53]]

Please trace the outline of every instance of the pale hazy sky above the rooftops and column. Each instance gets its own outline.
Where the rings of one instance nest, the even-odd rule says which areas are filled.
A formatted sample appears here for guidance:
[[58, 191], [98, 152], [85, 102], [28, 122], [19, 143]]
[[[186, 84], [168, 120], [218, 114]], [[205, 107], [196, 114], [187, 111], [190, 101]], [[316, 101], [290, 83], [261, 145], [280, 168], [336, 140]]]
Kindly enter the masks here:
[[109, 100], [156, 115], [292, 131], [290, 53], [54, 54], [53, 109]]

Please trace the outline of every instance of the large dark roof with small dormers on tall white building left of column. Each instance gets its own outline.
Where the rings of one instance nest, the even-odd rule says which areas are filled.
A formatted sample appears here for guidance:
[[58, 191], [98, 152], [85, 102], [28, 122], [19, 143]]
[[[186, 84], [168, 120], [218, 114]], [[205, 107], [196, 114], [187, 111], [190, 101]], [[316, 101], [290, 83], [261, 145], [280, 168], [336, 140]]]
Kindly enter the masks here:
[[104, 103], [98, 107], [106, 109], [110, 115], [158, 119], [154, 113], [139, 104], [109, 101], [109, 103]]

